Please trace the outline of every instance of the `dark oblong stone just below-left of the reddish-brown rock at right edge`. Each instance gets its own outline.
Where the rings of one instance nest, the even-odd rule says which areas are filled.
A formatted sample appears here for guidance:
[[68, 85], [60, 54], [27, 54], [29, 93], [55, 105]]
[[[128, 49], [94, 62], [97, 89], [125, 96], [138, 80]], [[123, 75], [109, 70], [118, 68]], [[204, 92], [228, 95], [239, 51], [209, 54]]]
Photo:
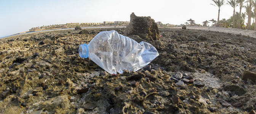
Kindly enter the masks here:
[[224, 89], [235, 92], [235, 94], [237, 94], [239, 96], [246, 93], [246, 90], [244, 88], [237, 86], [237, 85], [225, 85]]

